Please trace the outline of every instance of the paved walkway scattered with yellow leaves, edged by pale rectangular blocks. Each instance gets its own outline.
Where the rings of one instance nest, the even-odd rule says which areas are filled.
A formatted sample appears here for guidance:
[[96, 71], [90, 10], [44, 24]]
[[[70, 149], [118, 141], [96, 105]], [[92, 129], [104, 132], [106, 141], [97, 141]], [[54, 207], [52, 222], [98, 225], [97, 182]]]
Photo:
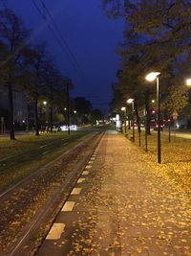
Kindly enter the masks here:
[[108, 132], [38, 256], [191, 255], [191, 201]]

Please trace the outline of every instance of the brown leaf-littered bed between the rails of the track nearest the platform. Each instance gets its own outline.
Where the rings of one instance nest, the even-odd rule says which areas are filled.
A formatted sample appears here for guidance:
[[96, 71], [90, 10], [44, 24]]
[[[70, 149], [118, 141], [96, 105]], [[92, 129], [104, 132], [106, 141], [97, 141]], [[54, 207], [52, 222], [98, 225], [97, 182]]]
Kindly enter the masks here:
[[0, 255], [19, 239], [35, 213], [59, 189], [80, 159], [96, 146], [96, 137], [64, 155], [17, 188], [9, 198], [0, 201]]

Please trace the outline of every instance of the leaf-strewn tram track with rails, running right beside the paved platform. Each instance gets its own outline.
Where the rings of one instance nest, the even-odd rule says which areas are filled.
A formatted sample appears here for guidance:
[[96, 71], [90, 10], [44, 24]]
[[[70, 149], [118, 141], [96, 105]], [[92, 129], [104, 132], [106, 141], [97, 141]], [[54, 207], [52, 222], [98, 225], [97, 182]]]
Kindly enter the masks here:
[[[48, 231], [47, 223], [49, 223], [48, 224], [48, 227], [49, 227], [51, 222], [55, 218], [55, 215], [59, 212], [59, 209], [64, 204], [66, 198], [68, 197], [68, 195], [70, 195], [70, 192], [72, 191], [78, 176], [81, 174], [83, 167], [86, 165], [92, 153], [95, 151], [96, 146], [98, 145], [102, 135], [103, 135], [103, 132], [97, 133], [96, 135], [93, 135], [87, 138], [85, 141], [82, 141], [77, 145], [75, 145], [73, 149], [65, 151], [61, 156], [59, 156], [58, 158], [56, 158], [55, 160], [53, 160], [51, 163], [49, 163], [44, 167], [44, 169], [47, 170], [47, 172], [45, 172], [44, 175], [47, 174], [49, 176], [51, 173], [49, 173], [48, 170], [52, 169], [52, 167], [55, 165], [55, 167], [53, 167], [55, 168], [55, 170], [53, 171], [53, 174], [50, 176], [50, 179], [52, 179], [56, 173], [56, 170], [57, 170], [56, 167], [59, 168], [58, 166], [62, 166], [63, 161], [67, 166], [72, 158], [76, 158], [75, 159], [76, 161], [74, 161], [74, 165], [72, 164], [72, 166], [69, 166], [70, 167], [69, 169], [72, 168], [72, 170], [69, 171], [66, 167], [66, 170], [64, 173], [62, 172], [60, 173], [60, 175], [57, 175], [57, 177], [54, 178], [53, 182], [55, 183], [58, 182], [59, 178], [63, 179], [63, 181], [60, 182], [59, 185], [57, 184], [51, 187], [48, 184], [49, 189], [52, 191], [51, 194], [49, 191], [47, 194], [46, 200], [42, 199], [43, 206], [37, 207], [37, 209], [35, 210], [35, 214], [32, 216], [31, 220], [28, 221], [27, 224], [25, 224], [24, 226], [21, 226], [22, 232], [20, 232], [19, 236], [17, 236], [16, 241], [14, 243], [10, 243], [9, 241], [7, 241], [7, 245], [2, 244], [2, 248], [3, 248], [2, 252], [4, 253], [2, 255], [10, 255], [10, 256], [32, 255], [32, 254], [29, 254], [29, 248], [31, 248], [32, 251], [34, 251], [35, 246], [39, 245], [38, 243], [36, 244], [36, 242], [34, 242], [35, 239], [32, 239], [32, 238], [38, 237], [39, 230], [41, 230], [41, 233], [43, 234], [40, 236], [41, 236], [41, 239], [43, 239], [46, 231]], [[43, 172], [44, 170], [42, 168], [38, 170], [38, 172], [33, 173], [32, 175], [26, 177], [25, 179], [15, 184], [7, 192], [4, 192], [3, 193], [4, 195], [3, 194], [0, 195], [0, 201], [3, 201], [3, 200], [5, 200], [5, 202], [9, 201], [9, 198], [11, 198], [12, 196], [13, 198], [17, 196], [19, 197], [19, 195], [17, 195], [18, 190], [21, 190], [21, 193], [23, 190], [25, 193], [27, 190], [26, 186], [29, 187], [30, 189], [30, 185], [29, 185], [30, 182], [32, 182], [32, 180], [34, 180], [36, 176], [38, 176]], [[41, 176], [39, 175], [39, 178], [40, 177]], [[44, 180], [44, 183], [42, 182], [42, 184], [44, 184], [43, 189], [45, 190], [46, 190], [47, 182], [49, 183], [49, 181], [46, 181], [46, 180]], [[40, 191], [38, 191], [38, 194], [39, 193]], [[38, 196], [36, 195], [34, 195], [33, 197], [38, 198]], [[23, 200], [23, 197], [20, 197], [20, 199]], [[31, 203], [29, 203], [29, 205], [31, 205]], [[20, 214], [23, 215], [23, 213], [20, 213]], [[15, 220], [11, 220], [11, 221], [15, 222]], [[8, 225], [11, 226], [11, 223]], [[6, 234], [0, 234], [0, 237], [3, 238], [4, 235]], [[27, 251], [26, 251], [26, 248], [27, 248]]]

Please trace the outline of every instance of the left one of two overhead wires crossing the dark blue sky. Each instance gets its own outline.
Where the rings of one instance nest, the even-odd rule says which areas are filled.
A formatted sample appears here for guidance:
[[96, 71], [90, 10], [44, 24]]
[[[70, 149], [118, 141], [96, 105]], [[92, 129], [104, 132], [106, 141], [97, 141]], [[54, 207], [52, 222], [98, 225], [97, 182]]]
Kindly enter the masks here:
[[65, 54], [67, 54], [67, 56], [70, 58], [70, 60], [71, 60], [71, 62], [72, 62], [72, 64], [73, 64], [73, 66], [74, 66], [75, 71], [76, 71], [76, 72], [79, 72], [79, 69], [76, 67], [76, 63], [75, 63], [74, 59], [71, 57], [70, 52], [68, 52], [68, 51], [65, 50], [65, 47], [63, 46], [62, 41], [60, 40], [60, 38], [59, 38], [59, 37], [56, 35], [56, 33], [54, 32], [53, 27], [48, 23], [47, 18], [46, 18], [46, 15], [40, 10], [40, 8], [38, 7], [38, 5], [35, 3], [34, 0], [32, 0], [32, 4], [33, 4], [33, 6], [35, 7], [35, 9], [37, 10], [37, 12], [39, 12], [39, 14], [40, 14], [40, 15], [42, 16], [42, 18], [45, 20], [45, 22], [46, 22], [46, 24], [47, 24], [49, 30], [52, 32], [52, 34], [53, 34], [55, 40], [57, 41], [57, 43], [58, 43], [59, 46], [61, 47], [62, 51], [63, 51]]

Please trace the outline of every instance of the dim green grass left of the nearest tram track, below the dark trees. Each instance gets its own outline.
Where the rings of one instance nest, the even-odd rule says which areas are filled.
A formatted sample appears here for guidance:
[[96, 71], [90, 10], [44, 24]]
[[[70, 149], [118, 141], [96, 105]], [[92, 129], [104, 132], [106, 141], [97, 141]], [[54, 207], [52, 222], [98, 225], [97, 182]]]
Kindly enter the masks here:
[[[90, 133], [90, 132], [89, 132]], [[4, 191], [35, 170], [73, 147], [87, 131], [21, 135], [15, 141], [0, 138], [0, 191]]]

